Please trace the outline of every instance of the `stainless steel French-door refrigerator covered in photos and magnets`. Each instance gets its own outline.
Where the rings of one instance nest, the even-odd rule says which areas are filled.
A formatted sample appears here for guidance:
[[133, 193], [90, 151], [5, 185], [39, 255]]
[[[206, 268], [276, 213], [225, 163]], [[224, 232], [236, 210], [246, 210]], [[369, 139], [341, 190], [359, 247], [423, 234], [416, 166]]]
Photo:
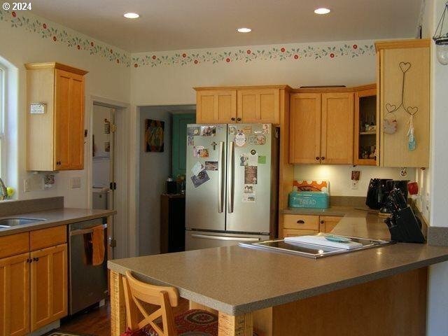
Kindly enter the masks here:
[[276, 237], [279, 129], [187, 125], [186, 250]]

